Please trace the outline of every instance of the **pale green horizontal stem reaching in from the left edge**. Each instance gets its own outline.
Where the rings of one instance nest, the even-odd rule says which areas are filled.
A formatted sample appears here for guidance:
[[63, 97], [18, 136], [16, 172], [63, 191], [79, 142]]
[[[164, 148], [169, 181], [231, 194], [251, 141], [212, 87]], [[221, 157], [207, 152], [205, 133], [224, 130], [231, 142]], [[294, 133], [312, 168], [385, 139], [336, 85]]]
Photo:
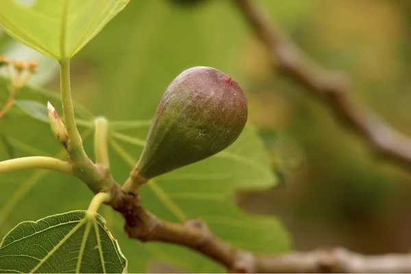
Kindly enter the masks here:
[[49, 169], [66, 175], [73, 175], [73, 166], [70, 162], [53, 157], [31, 156], [0, 162], [0, 174], [27, 169]]

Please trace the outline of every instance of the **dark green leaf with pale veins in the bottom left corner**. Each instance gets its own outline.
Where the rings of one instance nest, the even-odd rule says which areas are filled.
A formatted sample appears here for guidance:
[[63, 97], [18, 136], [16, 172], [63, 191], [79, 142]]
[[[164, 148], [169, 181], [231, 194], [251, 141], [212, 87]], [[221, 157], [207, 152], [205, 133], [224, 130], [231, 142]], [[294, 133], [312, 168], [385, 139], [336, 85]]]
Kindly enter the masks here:
[[123, 273], [127, 260], [99, 214], [76, 210], [24, 221], [0, 244], [1, 273]]

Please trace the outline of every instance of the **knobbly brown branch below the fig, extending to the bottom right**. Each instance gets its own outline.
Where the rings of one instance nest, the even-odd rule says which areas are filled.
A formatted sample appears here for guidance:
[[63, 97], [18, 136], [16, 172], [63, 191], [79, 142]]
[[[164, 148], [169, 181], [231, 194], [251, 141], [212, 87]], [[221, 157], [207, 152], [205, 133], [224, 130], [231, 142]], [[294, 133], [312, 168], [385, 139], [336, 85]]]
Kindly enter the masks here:
[[231, 273], [410, 273], [411, 254], [364, 256], [343, 248], [306, 253], [260, 255], [236, 249], [217, 238], [200, 219], [182, 224], [158, 219], [141, 206], [140, 197], [115, 184], [110, 206], [125, 219], [129, 238], [141, 242], [169, 242], [188, 247], [219, 262]]

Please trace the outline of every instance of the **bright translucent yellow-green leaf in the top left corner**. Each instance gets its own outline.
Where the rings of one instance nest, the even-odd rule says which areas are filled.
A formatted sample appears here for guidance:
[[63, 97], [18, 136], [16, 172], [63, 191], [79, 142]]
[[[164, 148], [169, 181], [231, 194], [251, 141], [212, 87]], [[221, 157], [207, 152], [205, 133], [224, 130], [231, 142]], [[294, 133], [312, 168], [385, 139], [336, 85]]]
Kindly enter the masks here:
[[56, 60], [82, 49], [129, 0], [0, 1], [0, 27]]

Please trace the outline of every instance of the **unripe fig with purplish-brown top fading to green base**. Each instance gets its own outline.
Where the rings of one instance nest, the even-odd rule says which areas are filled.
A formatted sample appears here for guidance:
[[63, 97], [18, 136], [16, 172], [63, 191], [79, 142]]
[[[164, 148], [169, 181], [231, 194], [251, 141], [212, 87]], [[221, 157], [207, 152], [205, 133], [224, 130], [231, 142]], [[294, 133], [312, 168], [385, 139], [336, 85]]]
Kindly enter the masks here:
[[231, 76], [206, 66], [183, 71], [155, 111], [136, 165], [151, 179], [222, 151], [247, 122], [247, 99]]

